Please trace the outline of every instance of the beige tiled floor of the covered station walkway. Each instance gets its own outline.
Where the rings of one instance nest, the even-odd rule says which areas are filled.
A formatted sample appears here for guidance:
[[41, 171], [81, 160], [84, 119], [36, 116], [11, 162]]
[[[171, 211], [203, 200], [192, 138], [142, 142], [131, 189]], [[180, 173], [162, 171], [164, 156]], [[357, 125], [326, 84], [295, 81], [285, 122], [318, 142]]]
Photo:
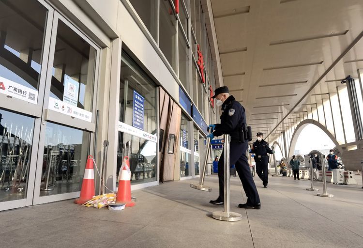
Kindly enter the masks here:
[[[356, 176], [358, 177], [358, 176]], [[306, 191], [307, 180], [270, 177], [263, 188], [255, 177], [262, 208], [240, 209], [245, 200], [238, 177], [231, 177], [231, 211], [238, 222], [211, 217], [222, 207], [217, 177], [206, 176], [212, 192], [189, 187], [197, 179], [167, 182], [133, 191], [136, 206], [121, 212], [85, 208], [73, 201], [0, 212], [0, 247], [116, 248], [361, 248], [363, 189], [328, 185], [334, 198]], [[322, 190], [322, 184], [315, 186]], [[243, 200], [244, 199], [244, 200]]]

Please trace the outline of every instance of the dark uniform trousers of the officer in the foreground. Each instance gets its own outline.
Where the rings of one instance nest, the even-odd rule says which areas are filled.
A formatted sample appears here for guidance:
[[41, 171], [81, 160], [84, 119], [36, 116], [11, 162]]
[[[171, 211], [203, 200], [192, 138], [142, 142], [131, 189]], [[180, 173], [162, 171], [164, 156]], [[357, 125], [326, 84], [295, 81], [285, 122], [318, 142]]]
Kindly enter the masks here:
[[[247, 202], [252, 205], [260, 203], [257, 188], [253, 181], [250, 165], [246, 156], [246, 150], [248, 147], [248, 141], [243, 143], [230, 142], [230, 166], [235, 165], [238, 172], [238, 176], [241, 179], [244, 193], [247, 196]], [[218, 179], [219, 179], [219, 197], [218, 199], [224, 202], [224, 152], [222, 153], [218, 161]]]

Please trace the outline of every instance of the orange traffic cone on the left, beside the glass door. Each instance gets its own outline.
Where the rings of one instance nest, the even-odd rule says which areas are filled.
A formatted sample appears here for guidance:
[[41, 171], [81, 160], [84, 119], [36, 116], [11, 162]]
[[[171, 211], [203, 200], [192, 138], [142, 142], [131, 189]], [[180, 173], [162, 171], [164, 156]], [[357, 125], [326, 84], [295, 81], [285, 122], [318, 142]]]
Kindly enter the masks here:
[[75, 200], [76, 204], [83, 204], [90, 201], [94, 196], [94, 172], [93, 172], [93, 157], [88, 156], [86, 169], [84, 170], [81, 194]]

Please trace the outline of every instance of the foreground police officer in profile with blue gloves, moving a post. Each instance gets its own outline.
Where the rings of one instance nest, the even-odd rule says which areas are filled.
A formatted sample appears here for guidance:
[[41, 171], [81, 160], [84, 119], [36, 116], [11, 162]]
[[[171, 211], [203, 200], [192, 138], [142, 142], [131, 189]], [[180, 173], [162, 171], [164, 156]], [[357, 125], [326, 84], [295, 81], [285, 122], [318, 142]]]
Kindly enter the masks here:
[[[212, 124], [209, 138], [221, 136], [223, 134], [230, 135], [230, 165], [235, 165], [238, 175], [241, 179], [244, 192], [247, 196], [247, 202], [239, 204], [240, 208], [260, 209], [261, 204], [257, 192], [255, 182], [252, 179], [250, 166], [248, 164], [246, 150], [248, 148], [248, 140], [241, 139], [241, 127], [246, 123], [245, 110], [236, 99], [229, 95], [226, 86], [215, 89], [214, 96], [216, 105], [222, 106], [221, 124]], [[243, 142], [242, 142], [243, 140]], [[223, 205], [224, 203], [224, 152], [218, 161], [218, 179], [219, 179], [219, 197], [210, 203], [215, 205]]]

